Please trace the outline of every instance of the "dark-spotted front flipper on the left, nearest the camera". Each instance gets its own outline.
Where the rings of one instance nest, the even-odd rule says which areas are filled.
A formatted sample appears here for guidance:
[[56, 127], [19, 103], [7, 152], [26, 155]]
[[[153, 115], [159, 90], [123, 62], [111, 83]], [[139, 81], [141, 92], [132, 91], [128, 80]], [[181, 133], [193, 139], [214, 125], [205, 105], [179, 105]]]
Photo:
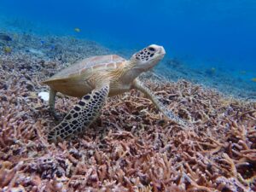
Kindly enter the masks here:
[[83, 96], [61, 123], [49, 131], [49, 143], [56, 143], [83, 132], [96, 119], [108, 98], [108, 92], [109, 84], [104, 84]]

